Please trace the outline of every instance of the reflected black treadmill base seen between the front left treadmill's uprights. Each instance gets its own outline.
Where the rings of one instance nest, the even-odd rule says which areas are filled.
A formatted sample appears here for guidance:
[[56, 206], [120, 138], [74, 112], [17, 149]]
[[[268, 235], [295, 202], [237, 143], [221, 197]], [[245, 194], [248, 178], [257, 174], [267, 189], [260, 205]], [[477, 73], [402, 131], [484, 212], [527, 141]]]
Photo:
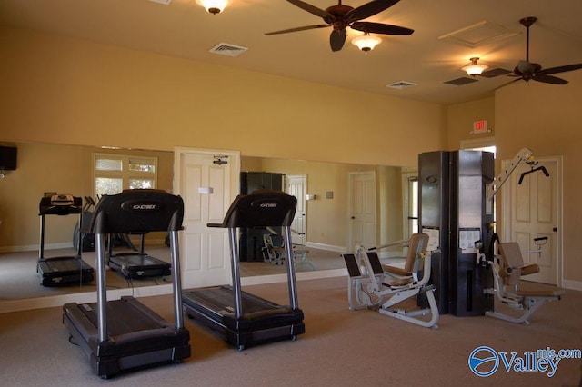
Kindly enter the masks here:
[[125, 278], [139, 280], [142, 278], [165, 277], [171, 275], [170, 263], [149, 255], [119, 254], [113, 255], [108, 262], [111, 270], [122, 273]]

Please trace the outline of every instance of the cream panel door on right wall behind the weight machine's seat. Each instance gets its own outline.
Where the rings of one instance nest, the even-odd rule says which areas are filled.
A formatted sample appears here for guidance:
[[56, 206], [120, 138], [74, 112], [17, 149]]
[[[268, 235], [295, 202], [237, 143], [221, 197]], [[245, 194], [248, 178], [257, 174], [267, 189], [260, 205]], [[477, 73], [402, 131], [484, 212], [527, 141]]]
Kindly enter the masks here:
[[[539, 283], [558, 283], [559, 257], [561, 252], [558, 224], [560, 223], [559, 192], [560, 168], [554, 158], [537, 159], [537, 167], [544, 166], [549, 173], [541, 171], [526, 174], [521, 184], [521, 174], [531, 170], [528, 164], [517, 165], [510, 176], [509, 193], [504, 201], [509, 201], [509, 240], [519, 243], [522, 251], [537, 250], [534, 238], [547, 237], [541, 256], [538, 253], [523, 253], [526, 263], [537, 263], [540, 272], [524, 277]], [[504, 205], [505, 207], [505, 205]]]

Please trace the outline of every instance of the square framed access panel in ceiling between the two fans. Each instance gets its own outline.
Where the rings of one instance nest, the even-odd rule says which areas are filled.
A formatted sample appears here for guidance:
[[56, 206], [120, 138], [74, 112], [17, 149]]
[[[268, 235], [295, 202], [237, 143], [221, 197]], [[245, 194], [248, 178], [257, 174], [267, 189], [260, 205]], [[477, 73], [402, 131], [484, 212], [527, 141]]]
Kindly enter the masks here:
[[495, 23], [484, 20], [475, 25], [469, 25], [452, 33], [438, 36], [438, 39], [456, 45], [476, 48], [519, 34], [519, 32], [511, 31], [503, 25], [496, 25]]

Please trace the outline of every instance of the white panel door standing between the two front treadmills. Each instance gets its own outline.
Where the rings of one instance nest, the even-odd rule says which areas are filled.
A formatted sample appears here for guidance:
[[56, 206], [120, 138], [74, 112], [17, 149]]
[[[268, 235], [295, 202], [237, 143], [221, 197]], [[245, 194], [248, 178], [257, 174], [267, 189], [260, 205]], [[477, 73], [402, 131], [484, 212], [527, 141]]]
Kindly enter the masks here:
[[[216, 156], [227, 163], [216, 163]], [[231, 283], [230, 246], [222, 223], [238, 193], [239, 154], [232, 151], [176, 148], [176, 194], [184, 199], [180, 262], [184, 288]]]

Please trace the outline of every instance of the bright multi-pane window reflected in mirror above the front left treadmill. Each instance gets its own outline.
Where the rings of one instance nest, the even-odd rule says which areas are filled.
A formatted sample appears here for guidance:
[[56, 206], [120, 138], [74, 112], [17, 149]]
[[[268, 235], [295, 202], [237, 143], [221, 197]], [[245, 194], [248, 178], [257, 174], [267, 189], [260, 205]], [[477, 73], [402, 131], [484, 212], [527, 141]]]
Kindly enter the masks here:
[[125, 189], [156, 188], [157, 158], [124, 154], [94, 154], [95, 195]]

